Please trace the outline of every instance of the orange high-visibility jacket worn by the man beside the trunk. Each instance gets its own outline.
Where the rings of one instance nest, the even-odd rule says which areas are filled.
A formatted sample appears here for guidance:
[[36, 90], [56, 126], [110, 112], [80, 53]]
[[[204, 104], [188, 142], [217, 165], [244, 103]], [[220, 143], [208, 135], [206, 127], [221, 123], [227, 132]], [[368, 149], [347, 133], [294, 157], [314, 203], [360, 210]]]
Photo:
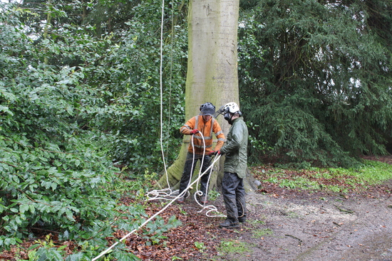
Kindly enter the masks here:
[[[212, 151], [212, 132], [215, 133], [217, 137], [217, 144], [215, 146], [215, 151], [219, 150], [223, 143], [226, 142], [225, 134], [223, 134], [220, 124], [213, 117], [205, 122], [202, 115], [197, 115], [192, 117], [180, 128], [180, 132], [185, 135], [190, 135], [192, 129], [198, 129], [202, 133], [205, 140], [205, 147], [203, 146], [202, 136], [200, 133], [193, 135], [193, 146], [195, 147], [195, 154], [203, 154], [205, 149], [205, 155], [208, 155]], [[192, 141], [189, 144], [188, 151], [193, 153]]]

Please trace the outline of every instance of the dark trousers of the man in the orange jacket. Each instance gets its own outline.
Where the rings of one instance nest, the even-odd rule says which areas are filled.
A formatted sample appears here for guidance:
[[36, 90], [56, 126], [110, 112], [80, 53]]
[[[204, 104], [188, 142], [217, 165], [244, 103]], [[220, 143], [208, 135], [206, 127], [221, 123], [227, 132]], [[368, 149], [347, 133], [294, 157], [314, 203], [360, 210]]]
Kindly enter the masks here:
[[[182, 172], [182, 176], [181, 176], [179, 193], [182, 193], [182, 191], [185, 191], [185, 188], [187, 188], [188, 183], [190, 182], [190, 179], [192, 177], [193, 171], [195, 171], [195, 166], [196, 166], [197, 160], [200, 160], [200, 162], [201, 162], [202, 158], [203, 158], [203, 155], [195, 154], [195, 162], [194, 162], [193, 168], [192, 168], [193, 154], [190, 152], [187, 153], [187, 159], [185, 160], [184, 172]], [[211, 161], [211, 157], [208, 155], [205, 155], [203, 165], [202, 165], [202, 173], [204, 173], [205, 170], [210, 166], [210, 161]], [[207, 171], [207, 173], [203, 174], [202, 177], [200, 178], [200, 191], [202, 191], [203, 196], [206, 193], [209, 175], [210, 175], [210, 169]], [[184, 196], [186, 196], [186, 194]]]

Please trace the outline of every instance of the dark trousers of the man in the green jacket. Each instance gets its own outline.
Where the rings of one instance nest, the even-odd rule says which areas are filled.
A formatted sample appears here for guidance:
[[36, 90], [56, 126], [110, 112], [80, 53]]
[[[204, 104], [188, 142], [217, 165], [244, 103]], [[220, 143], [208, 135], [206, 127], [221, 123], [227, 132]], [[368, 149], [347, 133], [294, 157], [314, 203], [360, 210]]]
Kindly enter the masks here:
[[246, 217], [244, 182], [237, 174], [225, 172], [222, 181], [222, 196], [228, 220], [236, 223], [238, 218]]

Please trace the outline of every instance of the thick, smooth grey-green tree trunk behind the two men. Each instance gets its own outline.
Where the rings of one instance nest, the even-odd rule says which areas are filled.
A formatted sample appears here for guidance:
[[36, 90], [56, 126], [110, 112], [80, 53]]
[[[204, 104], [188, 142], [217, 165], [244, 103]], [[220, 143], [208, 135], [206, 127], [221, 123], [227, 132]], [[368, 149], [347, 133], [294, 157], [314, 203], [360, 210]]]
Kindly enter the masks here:
[[[188, 16], [188, 60], [185, 86], [185, 119], [200, 113], [205, 102], [212, 102], [218, 110], [227, 102], [239, 104], [237, 74], [237, 26], [239, 0], [191, 0]], [[225, 134], [229, 124], [222, 116], [217, 118]], [[180, 131], [180, 130], [178, 130]], [[185, 135], [177, 160], [160, 179], [160, 186], [178, 188], [184, 168], [190, 136]], [[215, 165], [209, 190], [221, 186], [224, 156]], [[199, 171], [195, 170], [194, 178]], [[251, 178], [251, 175], [248, 175]], [[194, 180], [194, 179], [192, 179]], [[252, 181], [246, 181], [251, 191]], [[194, 191], [194, 190], [193, 190]]]

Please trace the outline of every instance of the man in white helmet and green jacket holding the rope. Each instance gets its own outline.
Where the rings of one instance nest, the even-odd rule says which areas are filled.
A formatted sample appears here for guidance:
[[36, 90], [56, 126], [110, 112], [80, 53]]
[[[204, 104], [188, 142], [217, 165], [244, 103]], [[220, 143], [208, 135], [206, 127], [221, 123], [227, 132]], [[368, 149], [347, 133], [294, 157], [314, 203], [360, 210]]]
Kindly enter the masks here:
[[232, 125], [227, 134], [227, 144], [215, 151], [215, 154], [226, 154], [222, 194], [227, 218], [219, 226], [237, 228], [239, 222], [245, 222], [247, 217], [243, 179], [247, 172], [248, 128], [235, 102], [227, 103], [217, 113], [223, 114]]

